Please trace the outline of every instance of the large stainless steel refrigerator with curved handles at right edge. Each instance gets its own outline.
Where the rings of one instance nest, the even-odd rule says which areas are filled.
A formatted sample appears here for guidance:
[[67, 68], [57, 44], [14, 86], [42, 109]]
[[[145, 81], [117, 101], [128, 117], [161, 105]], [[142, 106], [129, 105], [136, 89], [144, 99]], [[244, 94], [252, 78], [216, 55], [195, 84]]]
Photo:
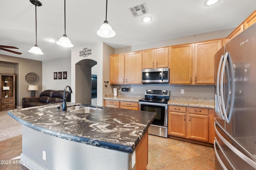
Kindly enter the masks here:
[[256, 24], [215, 54], [216, 169], [256, 169]]

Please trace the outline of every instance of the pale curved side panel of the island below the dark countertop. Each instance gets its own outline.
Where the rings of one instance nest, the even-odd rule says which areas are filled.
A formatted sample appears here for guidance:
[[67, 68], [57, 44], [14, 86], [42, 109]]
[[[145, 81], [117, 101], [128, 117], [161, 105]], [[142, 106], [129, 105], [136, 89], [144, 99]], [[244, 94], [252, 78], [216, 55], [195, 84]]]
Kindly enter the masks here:
[[[46, 160], [42, 158], [43, 150]], [[29, 162], [24, 166], [30, 169], [132, 169], [130, 153], [58, 138], [25, 125], [22, 125], [21, 159]]]

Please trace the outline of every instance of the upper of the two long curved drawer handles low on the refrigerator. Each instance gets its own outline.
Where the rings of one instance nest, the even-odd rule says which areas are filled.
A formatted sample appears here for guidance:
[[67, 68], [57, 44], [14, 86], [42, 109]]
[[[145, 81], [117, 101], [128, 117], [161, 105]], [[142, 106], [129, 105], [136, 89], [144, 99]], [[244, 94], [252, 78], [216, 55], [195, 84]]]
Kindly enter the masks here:
[[[239, 156], [242, 160], [244, 160], [245, 162], [247, 162], [250, 166], [252, 166], [254, 169], [256, 169], [256, 162], [254, 162], [253, 160], [251, 160], [250, 158], [248, 158], [245, 154], [243, 154], [242, 152], [240, 152], [240, 150], [238, 150], [237, 148], [235, 148], [232, 144], [230, 144], [230, 142], [228, 142], [228, 140], [226, 140], [218, 131], [217, 127], [218, 126], [222, 132], [224, 132], [227, 136], [229, 136], [234, 142], [236, 142], [236, 140], [230, 136], [230, 134], [228, 134], [216, 121], [214, 122], [214, 129], [216, 134], [218, 135], [218, 137], [220, 138], [220, 140], [222, 142], [224, 142], [224, 144], [226, 146], [228, 146], [228, 148], [230, 148], [237, 156]], [[236, 142], [236, 144], [238, 144], [238, 142]], [[238, 144], [239, 145], [239, 144]], [[247, 151], [243, 146], [239, 145], [245, 152]], [[248, 154], [250, 154], [248, 152]]]

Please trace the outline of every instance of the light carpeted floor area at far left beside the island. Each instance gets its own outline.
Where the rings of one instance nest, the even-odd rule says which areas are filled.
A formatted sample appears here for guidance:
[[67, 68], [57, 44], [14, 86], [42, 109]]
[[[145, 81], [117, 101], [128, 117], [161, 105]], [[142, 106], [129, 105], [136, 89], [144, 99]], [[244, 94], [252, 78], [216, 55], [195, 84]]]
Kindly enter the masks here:
[[22, 125], [10, 115], [7, 111], [0, 112], [0, 141], [13, 138], [22, 134]]

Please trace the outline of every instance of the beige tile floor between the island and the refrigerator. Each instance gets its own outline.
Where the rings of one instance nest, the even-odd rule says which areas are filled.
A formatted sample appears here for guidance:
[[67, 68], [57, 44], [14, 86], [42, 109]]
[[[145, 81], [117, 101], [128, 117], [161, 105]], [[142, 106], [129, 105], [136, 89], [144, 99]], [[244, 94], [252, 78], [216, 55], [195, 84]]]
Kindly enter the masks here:
[[148, 136], [148, 168], [150, 170], [214, 170], [214, 148]]

